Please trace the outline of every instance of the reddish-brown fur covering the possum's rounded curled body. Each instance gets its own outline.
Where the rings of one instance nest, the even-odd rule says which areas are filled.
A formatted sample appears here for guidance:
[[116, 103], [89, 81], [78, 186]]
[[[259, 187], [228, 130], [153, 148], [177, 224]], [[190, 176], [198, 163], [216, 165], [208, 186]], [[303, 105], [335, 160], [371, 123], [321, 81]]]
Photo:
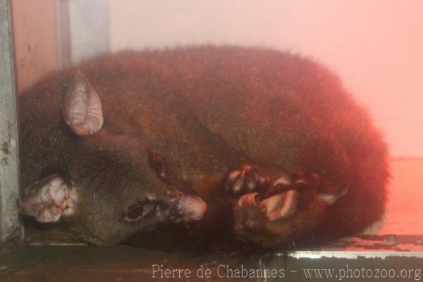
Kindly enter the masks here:
[[77, 68], [102, 99], [102, 132], [71, 133], [60, 106], [68, 70], [52, 73], [20, 95], [21, 169], [23, 187], [54, 171], [83, 188], [70, 219], [82, 240], [115, 244], [146, 230], [119, 221], [133, 198], [164, 185], [147, 168], [146, 148], [209, 205], [191, 239], [238, 237], [231, 229], [248, 211], [233, 215], [233, 199], [219, 188], [224, 173], [245, 163], [271, 178], [319, 173], [348, 189], [329, 208], [306, 193], [292, 221], [262, 219], [263, 233], [247, 242], [331, 240], [384, 212], [386, 146], [367, 112], [317, 63], [271, 49], [187, 47], [125, 51]]

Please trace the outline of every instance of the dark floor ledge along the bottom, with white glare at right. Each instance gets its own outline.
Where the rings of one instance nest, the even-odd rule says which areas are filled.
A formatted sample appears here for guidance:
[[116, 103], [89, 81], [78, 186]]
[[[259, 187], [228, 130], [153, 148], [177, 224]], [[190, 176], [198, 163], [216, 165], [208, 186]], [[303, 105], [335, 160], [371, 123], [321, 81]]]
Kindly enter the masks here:
[[[281, 278], [283, 281], [310, 281], [305, 271], [317, 268], [333, 269], [335, 281], [340, 281], [341, 271], [345, 275], [348, 269], [357, 271], [363, 267], [395, 269], [397, 279], [391, 281], [419, 281], [422, 266], [422, 252], [376, 250], [312, 251], [249, 257], [210, 254], [192, 257], [128, 246], [11, 246], [0, 249], [2, 282], [244, 281], [247, 278], [243, 277], [249, 276], [253, 281], [280, 281]], [[398, 275], [403, 275], [404, 272], [400, 271], [404, 269], [409, 276], [401, 280]], [[247, 271], [247, 276], [243, 276], [242, 271]], [[264, 271], [269, 272], [265, 274]], [[316, 274], [312, 272], [311, 275]], [[369, 281], [365, 276], [354, 278], [353, 281]], [[320, 278], [319, 281], [328, 280]]]

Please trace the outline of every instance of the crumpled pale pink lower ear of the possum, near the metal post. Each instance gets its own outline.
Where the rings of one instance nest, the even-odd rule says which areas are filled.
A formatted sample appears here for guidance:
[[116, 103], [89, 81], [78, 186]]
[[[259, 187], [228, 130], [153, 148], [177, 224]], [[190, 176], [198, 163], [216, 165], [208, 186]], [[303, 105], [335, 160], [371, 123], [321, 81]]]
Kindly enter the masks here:
[[75, 191], [63, 178], [52, 175], [25, 189], [18, 200], [18, 207], [22, 214], [47, 223], [74, 214], [75, 200]]

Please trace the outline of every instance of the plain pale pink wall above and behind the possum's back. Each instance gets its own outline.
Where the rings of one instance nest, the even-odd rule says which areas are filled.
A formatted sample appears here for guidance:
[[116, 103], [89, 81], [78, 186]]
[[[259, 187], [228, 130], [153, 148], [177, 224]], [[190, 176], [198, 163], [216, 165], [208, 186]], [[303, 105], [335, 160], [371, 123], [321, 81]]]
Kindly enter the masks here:
[[423, 1], [109, 0], [111, 49], [263, 45], [338, 73], [393, 157], [423, 157]]

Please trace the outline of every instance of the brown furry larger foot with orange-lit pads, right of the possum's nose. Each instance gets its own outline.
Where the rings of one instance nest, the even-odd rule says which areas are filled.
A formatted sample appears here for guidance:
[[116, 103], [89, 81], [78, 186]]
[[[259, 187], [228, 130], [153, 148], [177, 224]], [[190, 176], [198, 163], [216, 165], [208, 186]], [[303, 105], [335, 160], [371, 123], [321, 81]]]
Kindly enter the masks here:
[[238, 240], [265, 248], [311, 241], [329, 206], [341, 196], [291, 183], [271, 195], [246, 194], [235, 204], [233, 231]]

